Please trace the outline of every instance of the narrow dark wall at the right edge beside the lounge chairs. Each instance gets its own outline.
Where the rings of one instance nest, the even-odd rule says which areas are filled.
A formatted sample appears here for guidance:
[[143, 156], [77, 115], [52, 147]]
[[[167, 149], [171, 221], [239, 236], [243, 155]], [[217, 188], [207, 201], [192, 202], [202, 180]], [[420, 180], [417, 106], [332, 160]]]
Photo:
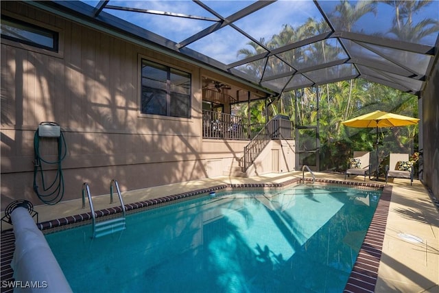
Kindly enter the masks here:
[[421, 97], [422, 115], [422, 147], [423, 182], [431, 189], [436, 200], [439, 200], [439, 60], [436, 59], [433, 73]]

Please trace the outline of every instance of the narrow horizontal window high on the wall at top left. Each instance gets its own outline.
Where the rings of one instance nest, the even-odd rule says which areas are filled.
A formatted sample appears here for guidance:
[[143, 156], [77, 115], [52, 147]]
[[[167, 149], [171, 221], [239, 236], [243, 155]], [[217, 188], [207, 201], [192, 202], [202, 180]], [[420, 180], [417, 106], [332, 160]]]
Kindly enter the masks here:
[[1, 37], [58, 52], [58, 32], [1, 15]]

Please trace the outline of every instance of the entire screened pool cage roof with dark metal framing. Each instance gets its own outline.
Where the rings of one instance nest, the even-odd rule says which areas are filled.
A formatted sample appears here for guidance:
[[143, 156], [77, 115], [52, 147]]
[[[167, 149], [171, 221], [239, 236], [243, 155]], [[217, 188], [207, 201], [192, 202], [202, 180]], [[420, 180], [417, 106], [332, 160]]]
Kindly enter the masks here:
[[438, 51], [439, 1], [84, 2], [275, 93], [365, 78], [416, 94]]

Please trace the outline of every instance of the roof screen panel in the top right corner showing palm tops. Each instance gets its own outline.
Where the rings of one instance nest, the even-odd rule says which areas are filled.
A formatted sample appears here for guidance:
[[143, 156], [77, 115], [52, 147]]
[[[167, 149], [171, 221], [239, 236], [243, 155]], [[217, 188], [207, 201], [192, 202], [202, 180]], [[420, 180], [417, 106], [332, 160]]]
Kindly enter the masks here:
[[[438, 1], [318, 1], [335, 31], [434, 46]], [[396, 17], [398, 16], [398, 17]], [[431, 31], [430, 31], [431, 32]]]

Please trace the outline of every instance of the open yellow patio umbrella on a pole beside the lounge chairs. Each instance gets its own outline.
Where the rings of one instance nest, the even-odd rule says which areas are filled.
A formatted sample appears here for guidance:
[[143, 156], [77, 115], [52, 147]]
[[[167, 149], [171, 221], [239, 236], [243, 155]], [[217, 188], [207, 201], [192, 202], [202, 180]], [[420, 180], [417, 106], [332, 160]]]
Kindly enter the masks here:
[[370, 112], [359, 117], [343, 121], [342, 124], [357, 128], [376, 128], [377, 129], [377, 180], [378, 180], [378, 128], [407, 126], [417, 124], [418, 118], [387, 113], [380, 110]]

